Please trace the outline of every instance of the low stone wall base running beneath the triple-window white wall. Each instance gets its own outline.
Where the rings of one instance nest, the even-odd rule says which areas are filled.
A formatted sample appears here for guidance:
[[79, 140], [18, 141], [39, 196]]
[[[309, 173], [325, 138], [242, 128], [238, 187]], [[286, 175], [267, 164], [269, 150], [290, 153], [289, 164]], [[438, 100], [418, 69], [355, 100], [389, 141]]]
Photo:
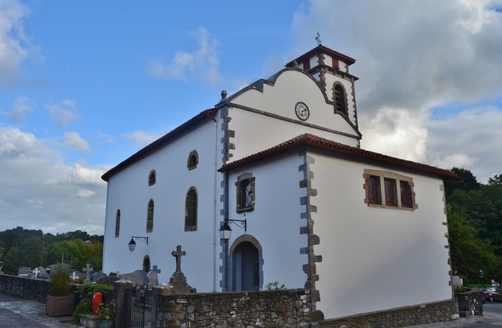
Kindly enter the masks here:
[[328, 319], [318, 322], [325, 328], [381, 328], [425, 325], [433, 322], [449, 321], [459, 318], [459, 309], [455, 298], [434, 303], [397, 307], [385, 311], [376, 311], [355, 316]]

